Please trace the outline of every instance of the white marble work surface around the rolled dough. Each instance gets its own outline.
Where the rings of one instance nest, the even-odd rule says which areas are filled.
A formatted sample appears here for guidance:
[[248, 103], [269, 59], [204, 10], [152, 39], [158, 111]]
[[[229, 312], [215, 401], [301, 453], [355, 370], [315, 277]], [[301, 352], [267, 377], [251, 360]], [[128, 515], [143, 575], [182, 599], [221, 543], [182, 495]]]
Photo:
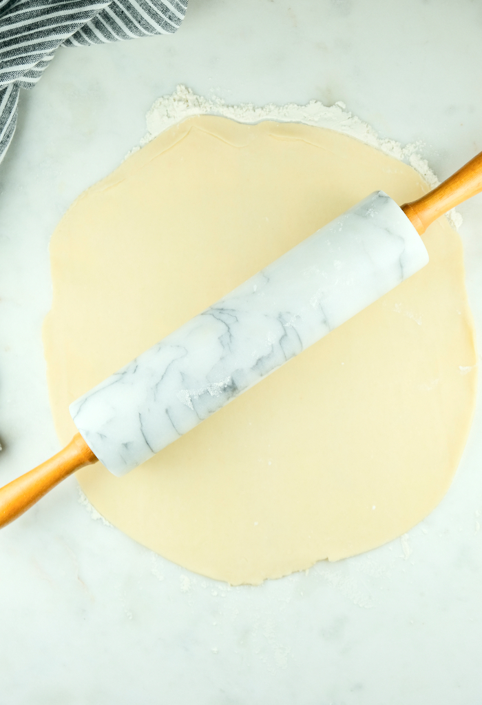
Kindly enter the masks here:
[[[0, 166], [0, 483], [59, 449], [42, 351], [47, 245], [185, 83], [342, 100], [445, 178], [482, 149], [474, 0], [190, 0], [173, 37], [60, 49]], [[482, 339], [482, 197], [460, 207]], [[88, 331], [86, 331], [88, 335]], [[134, 544], [75, 479], [0, 534], [0, 705], [474, 705], [482, 699], [482, 408], [440, 506], [402, 540], [229, 588]]]

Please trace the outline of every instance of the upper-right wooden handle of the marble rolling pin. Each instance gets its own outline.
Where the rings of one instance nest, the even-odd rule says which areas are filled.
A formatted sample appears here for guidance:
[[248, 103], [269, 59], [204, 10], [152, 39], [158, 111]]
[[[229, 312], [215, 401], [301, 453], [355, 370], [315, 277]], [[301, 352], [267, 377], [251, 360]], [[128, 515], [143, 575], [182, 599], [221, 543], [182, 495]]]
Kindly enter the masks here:
[[410, 219], [417, 233], [421, 235], [439, 216], [481, 191], [482, 152], [433, 191], [417, 201], [405, 203], [402, 211]]

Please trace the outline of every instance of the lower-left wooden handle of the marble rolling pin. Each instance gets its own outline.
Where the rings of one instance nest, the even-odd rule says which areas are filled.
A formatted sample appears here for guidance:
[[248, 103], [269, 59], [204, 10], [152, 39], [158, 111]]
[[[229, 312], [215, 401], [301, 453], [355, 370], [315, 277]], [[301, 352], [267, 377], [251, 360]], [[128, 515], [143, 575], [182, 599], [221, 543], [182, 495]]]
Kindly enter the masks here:
[[97, 458], [80, 434], [53, 458], [0, 489], [0, 528], [20, 517], [61, 480]]

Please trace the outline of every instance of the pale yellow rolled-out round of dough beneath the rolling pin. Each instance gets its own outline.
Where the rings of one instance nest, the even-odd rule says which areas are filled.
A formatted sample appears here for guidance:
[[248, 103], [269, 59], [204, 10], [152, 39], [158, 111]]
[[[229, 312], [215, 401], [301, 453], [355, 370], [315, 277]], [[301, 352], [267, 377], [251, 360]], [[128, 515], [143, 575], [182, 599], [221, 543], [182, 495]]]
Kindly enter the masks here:
[[[428, 190], [410, 166], [331, 130], [191, 118], [85, 192], [51, 241], [44, 343], [63, 443], [68, 405], [376, 189]], [[425, 269], [118, 479], [77, 473], [141, 544], [232, 584], [379, 546], [440, 501], [474, 410], [459, 236]]]

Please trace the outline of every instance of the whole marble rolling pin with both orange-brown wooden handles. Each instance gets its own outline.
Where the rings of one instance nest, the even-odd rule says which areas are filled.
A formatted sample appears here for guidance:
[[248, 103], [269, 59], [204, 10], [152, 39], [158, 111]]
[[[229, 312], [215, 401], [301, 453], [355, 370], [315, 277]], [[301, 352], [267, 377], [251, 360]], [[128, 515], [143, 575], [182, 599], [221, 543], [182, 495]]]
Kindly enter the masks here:
[[0, 489], [0, 527], [100, 460], [122, 475], [429, 261], [419, 235], [482, 191], [482, 152], [401, 208], [382, 191], [321, 228], [70, 405], [60, 453]]

